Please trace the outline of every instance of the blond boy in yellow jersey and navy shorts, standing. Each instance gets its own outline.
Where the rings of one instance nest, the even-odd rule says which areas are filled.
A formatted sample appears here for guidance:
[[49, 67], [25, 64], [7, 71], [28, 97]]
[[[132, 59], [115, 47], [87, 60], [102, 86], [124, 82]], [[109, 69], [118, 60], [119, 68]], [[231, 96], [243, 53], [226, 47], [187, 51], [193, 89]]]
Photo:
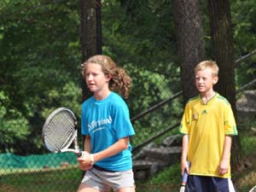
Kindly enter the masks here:
[[201, 61], [195, 67], [200, 95], [189, 99], [179, 129], [183, 134], [181, 170], [189, 172], [188, 192], [235, 191], [230, 149], [231, 136], [237, 135], [236, 121], [230, 103], [213, 90], [217, 82], [216, 62]]

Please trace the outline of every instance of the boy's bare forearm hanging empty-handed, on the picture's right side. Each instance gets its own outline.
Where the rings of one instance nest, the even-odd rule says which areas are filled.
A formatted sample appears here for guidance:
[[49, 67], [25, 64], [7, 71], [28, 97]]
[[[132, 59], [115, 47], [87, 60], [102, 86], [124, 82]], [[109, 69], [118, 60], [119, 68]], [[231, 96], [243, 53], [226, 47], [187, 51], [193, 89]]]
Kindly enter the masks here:
[[219, 175], [224, 175], [229, 171], [231, 144], [232, 144], [232, 137], [226, 135], [224, 138], [224, 150], [222, 154], [222, 159], [218, 166]]

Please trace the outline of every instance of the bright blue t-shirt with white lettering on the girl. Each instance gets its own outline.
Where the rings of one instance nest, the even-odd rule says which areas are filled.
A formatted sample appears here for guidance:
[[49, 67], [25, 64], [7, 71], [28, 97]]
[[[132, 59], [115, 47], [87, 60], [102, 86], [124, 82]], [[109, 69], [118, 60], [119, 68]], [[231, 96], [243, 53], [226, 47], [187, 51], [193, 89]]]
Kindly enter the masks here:
[[[131, 125], [129, 109], [118, 94], [111, 92], [103, 100], [91, 96], [82, 104], [82, 134], [90, 135], [90, 153], [95, 154], [110, 147], [120, 138], [131, 137], [135, 131]], [[96, 166], [111, 171], [125, 171], [132, 168], [131, 144], [129, 148], [106, 159]]]

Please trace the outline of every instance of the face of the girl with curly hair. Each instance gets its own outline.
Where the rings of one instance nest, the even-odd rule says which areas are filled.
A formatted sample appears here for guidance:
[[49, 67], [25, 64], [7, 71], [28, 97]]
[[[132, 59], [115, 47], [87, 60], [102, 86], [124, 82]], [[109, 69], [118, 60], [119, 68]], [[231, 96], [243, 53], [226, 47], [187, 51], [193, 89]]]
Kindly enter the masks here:
[[109, 91], [108, 82], [110, 78], [102, 72], [102, 66], [96, 63], [88, 63], [86, 65], [85, 80], [88, 88], [95, 95]]

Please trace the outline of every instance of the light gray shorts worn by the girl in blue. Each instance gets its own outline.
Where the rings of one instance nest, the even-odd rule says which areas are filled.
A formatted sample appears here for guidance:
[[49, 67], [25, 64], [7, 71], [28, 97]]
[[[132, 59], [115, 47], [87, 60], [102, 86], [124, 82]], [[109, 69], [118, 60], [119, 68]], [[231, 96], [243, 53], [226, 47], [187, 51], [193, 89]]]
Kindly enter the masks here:
[[135, 187], [132, 169], [121, 172], [105, 172], [93, 167], [85, 173], [81, 183], [101, 191], [109, 191], [110, 189], [116, 191], [122, 188]]

